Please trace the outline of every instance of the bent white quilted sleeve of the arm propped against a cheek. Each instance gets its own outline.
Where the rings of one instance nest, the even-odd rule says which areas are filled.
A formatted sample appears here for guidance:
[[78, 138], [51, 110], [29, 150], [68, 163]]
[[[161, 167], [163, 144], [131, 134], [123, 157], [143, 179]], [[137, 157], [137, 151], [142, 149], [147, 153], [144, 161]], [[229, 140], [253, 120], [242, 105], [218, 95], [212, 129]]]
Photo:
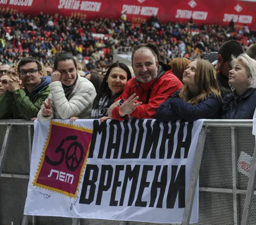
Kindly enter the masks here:
[[54, 106], [62, 119], [72, 116], [78, 117], [82, 112], [92, 107], [95, 97], [95, 88], [90, 82], [78, 85], [76, 94], [68, 101], [60, 81], [49, 84]]

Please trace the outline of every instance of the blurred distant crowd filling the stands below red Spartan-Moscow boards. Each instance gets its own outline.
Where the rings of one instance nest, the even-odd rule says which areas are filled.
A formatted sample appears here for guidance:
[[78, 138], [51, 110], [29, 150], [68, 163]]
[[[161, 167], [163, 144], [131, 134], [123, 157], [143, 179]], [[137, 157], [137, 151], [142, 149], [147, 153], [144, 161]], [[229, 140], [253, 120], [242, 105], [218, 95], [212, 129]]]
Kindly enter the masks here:
[[95, 68], [105, 71], [115, 51], [129, 52], [141, 43], [154, 42], [163, 58], [194, 59], [218, 51], [221, 44], [232, 39], [246, 50], [256, 41], [256, 33], [246, 25], [237, 28], [199, 25], [193, 20], [162, 24], [153, 16], [141, 24], [132, 24], [121, 18], [88, 21], [57, 14], [40, 13], [33, 17], [6, 10], [0, 12], [0, 62], [8, 65], [32, 56], [52, 66], [57, 53], [70, 52], [84, 71]]

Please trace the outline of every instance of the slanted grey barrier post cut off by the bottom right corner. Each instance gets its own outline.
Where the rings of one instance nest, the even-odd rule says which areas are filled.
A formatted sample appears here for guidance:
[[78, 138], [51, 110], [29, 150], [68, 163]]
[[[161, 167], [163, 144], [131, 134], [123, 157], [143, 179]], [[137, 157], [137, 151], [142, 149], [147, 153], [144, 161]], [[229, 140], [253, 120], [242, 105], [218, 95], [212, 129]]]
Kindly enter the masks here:
[[251, 206], [254, 196], [254, 188], [256, 183], [256, 146], [254, 147], [253, 159], [250, 167], [249, 181], [247, 186], [247, 193], [245, 197], [243, 215], [241, 225], [248, 225], [251, 213]]

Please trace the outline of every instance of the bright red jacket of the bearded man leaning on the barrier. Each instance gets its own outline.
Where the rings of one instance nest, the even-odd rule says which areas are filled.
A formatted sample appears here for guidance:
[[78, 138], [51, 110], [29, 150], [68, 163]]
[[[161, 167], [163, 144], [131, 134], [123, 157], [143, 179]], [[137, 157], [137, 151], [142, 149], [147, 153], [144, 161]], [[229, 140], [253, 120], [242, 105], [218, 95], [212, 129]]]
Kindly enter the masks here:
[[[174, 92], [178, 91], [183, 84], [171, 72], [171, 66], [162, 64], [158, 65], [158, 76], [149, 83], [140, 83], [133, 77], [129, 80], [121, 94], [116, 100], [127, 100], [132, 94], [136, 93], [139, 100], [135, 103], [142, 102], [130, 116], [137, 119], [154, 119], [156, 109], [165, 102]], [[116, 120], [124, 120], [119, 116], [118, 109], [113, 109], [112, 118]]]

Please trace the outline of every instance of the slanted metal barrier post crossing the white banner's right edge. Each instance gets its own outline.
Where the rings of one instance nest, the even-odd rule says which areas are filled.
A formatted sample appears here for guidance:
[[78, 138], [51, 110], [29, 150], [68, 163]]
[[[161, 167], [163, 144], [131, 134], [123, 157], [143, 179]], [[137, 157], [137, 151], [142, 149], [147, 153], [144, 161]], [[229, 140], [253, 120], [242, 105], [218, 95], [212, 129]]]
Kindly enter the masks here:
[[186, 205], [185, 205], [185, 210], [183, 214], [182, 225], [189, 225], [193, 202], [194, 202], [195, 189], [197, 186], [198, 175], [199, 175], [201, 161], [202, 161], [202, 153], [203, 153], [203, 148], [204, 148], [204, 143], [206, 138], [206, 131], [207, 131], [207, 127], [203, 127], [199, 135], [196, 152], [194, 155], [192, 175], [191, 175], [187, 197], [186, 197]]

